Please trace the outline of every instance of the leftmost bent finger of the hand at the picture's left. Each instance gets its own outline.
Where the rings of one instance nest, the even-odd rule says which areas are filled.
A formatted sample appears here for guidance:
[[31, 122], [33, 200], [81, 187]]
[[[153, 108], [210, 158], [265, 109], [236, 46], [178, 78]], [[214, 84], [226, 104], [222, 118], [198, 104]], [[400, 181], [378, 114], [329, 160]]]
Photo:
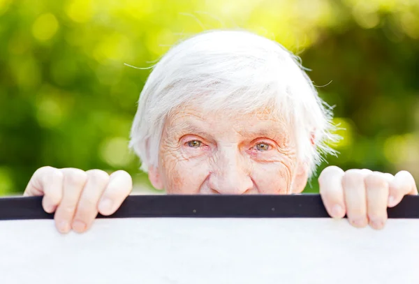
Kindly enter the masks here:
[[43, 195], [42, 206], [47, 213], [57, 209], [62, 198], [64, 175], [61, 170], [55, 167], [41, 167], [31, 177], [24, 196]]

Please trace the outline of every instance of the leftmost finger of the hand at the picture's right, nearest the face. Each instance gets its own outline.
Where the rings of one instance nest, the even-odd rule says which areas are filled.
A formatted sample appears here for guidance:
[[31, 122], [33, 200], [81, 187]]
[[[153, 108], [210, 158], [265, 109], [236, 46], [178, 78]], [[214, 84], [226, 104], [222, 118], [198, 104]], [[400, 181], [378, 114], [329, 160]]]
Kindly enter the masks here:
[[326, 167], [318, 177], [320, 195], [326, 211], [333, 218], [343, 218], [346, 213], [342, 177], [344, 171], [339, 167]]

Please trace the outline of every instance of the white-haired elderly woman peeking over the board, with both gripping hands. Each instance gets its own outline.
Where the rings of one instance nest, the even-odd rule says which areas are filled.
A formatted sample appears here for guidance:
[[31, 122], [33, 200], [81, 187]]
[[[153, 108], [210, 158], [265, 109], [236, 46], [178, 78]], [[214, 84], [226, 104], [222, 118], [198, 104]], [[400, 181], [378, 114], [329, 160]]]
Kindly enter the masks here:
[[[131, 147], [168, 194], [301, 193], [334, 154], [332, 114], [296, 58], [247, 31], [210, 31], [173, 47], [149, 75]], [[318, 180], [330, 216], [380, 229], [387, 207], [417, 194], [409, 172], [327, 167]], [[131, 192], [124, 171], [41, 167], [25, 196], [44, 195], [59, 232], [84, 232]]]

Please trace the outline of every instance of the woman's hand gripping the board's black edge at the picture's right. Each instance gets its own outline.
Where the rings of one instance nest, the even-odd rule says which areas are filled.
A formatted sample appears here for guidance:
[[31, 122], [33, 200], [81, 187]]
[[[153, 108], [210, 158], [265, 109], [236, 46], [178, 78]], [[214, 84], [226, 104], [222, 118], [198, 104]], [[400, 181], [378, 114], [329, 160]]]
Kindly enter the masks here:
[[410, 172], [395, 174], [371, 170], [341, 170], [326, 167], [318, 178], [320, 194], [328, 214], [343, 218], [355, 227], [368, 224], [382, 229], [387, 208], [395, 207], [404, 195], [417, 195], [418, 188]]

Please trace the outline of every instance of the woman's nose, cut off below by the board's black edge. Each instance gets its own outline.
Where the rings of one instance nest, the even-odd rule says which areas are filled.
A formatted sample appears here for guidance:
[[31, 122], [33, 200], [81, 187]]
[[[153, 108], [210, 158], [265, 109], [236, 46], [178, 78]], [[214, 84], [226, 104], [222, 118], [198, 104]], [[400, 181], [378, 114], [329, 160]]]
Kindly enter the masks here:
[[210, 174], [209, 186], [219, 194], [240, 195], [251, 191], [249, 161], [233, 149], [222, 151], [216, 158], [214, 170]]

